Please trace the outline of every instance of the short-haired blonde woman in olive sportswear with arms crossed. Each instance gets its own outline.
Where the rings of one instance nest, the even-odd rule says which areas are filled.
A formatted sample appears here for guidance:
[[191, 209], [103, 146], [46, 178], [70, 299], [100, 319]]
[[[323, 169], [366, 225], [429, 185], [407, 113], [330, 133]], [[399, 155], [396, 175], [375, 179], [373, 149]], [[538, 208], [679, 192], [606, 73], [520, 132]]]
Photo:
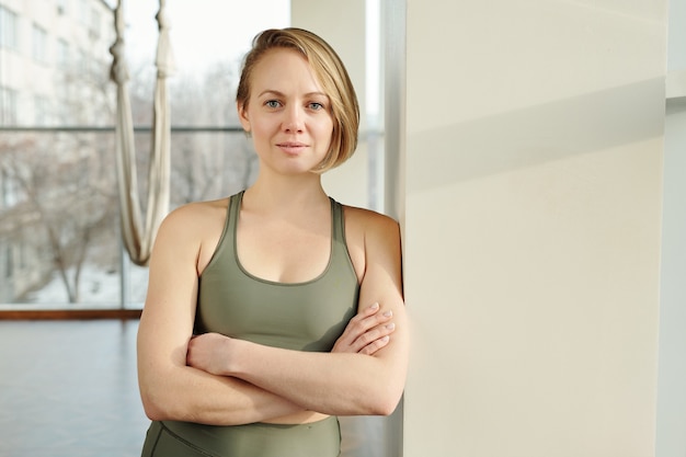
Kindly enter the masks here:
[[150, 261], [144, 456], [338, 456], [336, 415], [390, 414], [402, 395], [398, 225], [322, 188], [355, 150], [359, 115], [320, 37], [258, 35], [237, 106], [254, 184], [172, 212]]

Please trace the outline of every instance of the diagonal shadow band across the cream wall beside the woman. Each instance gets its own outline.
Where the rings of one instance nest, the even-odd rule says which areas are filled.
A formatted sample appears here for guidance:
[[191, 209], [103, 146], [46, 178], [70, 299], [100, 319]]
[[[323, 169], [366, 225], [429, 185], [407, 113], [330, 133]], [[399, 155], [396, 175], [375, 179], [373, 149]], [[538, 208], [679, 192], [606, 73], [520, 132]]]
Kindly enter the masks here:
[[424, 191], [662, 136], [664, 84], [654, 78], [409, 135], [408, 184]]

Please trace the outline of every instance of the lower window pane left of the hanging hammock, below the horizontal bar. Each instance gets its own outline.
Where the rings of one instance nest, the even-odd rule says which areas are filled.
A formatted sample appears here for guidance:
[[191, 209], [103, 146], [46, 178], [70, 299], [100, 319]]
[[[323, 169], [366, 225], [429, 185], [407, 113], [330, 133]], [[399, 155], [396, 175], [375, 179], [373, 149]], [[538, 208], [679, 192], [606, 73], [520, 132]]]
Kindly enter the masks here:
[[112, 134], [3, 134], [0, 298], [119, 306]]

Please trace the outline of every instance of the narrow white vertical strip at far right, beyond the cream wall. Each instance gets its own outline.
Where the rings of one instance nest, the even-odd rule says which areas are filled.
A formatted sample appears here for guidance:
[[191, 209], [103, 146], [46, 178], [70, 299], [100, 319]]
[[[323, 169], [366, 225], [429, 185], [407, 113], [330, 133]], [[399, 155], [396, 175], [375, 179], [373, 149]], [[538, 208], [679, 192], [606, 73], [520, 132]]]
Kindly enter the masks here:
[[686, 1], [668, 28], [656, 457], [686, 455]]

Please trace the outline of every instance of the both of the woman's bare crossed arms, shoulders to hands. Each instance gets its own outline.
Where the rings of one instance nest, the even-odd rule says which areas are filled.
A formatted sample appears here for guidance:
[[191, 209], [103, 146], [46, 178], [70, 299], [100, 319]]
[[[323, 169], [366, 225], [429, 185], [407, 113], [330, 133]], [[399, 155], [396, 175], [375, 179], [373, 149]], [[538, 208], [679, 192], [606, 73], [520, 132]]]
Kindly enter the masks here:
[[311, 353], [216, 333], [192, 338], [203, 225], [193, 212], [176, 210], [164, 220], [151, 258], [138, 333], [148, 416], [235, 425], [313, 413], [390, 414], [402, 395], [409, 352], [397, 224], [365, 215], [361, 309], [331, 353]]

